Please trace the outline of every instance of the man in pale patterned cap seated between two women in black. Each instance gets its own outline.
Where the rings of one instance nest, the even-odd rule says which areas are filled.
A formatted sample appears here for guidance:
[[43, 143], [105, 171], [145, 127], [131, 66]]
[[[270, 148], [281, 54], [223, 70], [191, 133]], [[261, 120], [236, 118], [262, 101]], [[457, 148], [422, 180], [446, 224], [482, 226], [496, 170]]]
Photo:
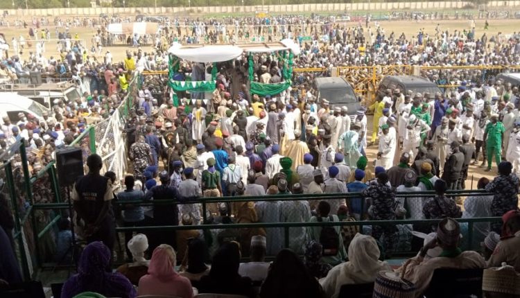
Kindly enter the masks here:
[[250, 262], [240, 263], [239, 274], [249, 277], [252, 281], [263, 281], [269, 271], [269, 262], [266, 258], [266, 237], [253, 236], [250, 245]]

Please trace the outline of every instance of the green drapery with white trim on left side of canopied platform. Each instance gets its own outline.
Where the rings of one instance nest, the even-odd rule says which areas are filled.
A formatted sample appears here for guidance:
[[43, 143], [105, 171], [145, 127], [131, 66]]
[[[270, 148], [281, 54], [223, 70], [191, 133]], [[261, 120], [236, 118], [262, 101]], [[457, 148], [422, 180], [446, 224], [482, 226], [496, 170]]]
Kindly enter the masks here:
[[200, 80], [200, 81], [180, 81], [173, 80], [173, 76], [175, 73], [179, 72], [179, 62], [180, 59], [175, 55], [169, 55], [168, 59], [168, 85], [173, 89], [173, 105], [175, 107], [179, 106], [179, 98], [177, 96], [177, 91], [194, 91], [194, 92], [206, 92], [213, 91], [216, 85], [216, 74], [217, 74], [217, 65], [213, 64], [211, 68], [211, 78], [213, 80]]

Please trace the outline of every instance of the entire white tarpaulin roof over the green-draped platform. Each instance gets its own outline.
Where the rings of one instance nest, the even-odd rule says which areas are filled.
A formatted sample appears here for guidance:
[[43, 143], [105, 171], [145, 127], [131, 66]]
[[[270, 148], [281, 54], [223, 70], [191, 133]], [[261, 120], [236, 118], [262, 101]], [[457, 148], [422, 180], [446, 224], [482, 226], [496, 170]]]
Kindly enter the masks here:
[[281, 42], [268, 44], [241, 44], [236, 46], [205, 44], [183, 46], [182, 44], [174, 42], [170, 49], [168, 49], [168, 53], [193, 62], [225, 62], [239, 58], [243, 52], [268, 53], [284, 50], [293, 51], [295, 55], [300, 54], [300, 46], [295, 44], [292, 40], [281, 40]]

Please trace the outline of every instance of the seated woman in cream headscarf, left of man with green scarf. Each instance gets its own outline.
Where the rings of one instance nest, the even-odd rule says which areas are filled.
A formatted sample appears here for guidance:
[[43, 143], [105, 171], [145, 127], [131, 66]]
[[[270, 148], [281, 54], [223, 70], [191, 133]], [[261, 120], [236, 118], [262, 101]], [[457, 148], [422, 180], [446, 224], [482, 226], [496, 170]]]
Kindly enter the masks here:
[[332, 268], [327, 277], [320, 279], [325, 297], [336, 298], [341, 286], [354, 283], [372, 283], [381, 270], [392, 270], [388, 263], [379, 261], [379, 247], [372, 236], [356, 234], [349, 245], [349, 261]]

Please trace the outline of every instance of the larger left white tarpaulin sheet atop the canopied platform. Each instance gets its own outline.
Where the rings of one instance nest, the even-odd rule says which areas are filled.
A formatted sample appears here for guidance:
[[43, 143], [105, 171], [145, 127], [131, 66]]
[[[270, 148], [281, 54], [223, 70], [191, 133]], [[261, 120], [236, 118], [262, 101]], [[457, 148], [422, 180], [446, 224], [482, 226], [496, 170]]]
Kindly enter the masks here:
[[238, 46], [182, 46], [174, 42], [168, 53], [192, 62], [225, 62], [239, 58], [243, 49]]

